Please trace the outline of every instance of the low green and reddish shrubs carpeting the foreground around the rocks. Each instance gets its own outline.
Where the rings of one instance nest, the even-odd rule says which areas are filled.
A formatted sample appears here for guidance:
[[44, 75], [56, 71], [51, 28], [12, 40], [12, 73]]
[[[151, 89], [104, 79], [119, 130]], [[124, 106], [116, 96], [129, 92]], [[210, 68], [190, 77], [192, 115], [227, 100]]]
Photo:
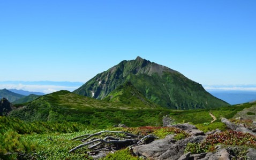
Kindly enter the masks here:
[[[33, 115], [34, 118], [41, 118], [41, 121], [28, 118], [28, 116], [21, 117], [22, 114], [18, 112], [11, 114], [10, 117], [0, 117], [0, 158], [16, 159], [17, 156], [21, 156], [17, 153], [22, 153], [37, 159], [91, 159], [87, 154], [87, 148], [81, 148], [74, 153], [68, 152], [80, 144], [79, 141], [71, 141], [72, 138], [108, 129], [139, 135], [153, 134], [159, 138], [164, 138], [167, 134], [176, 134], [175, 139], [179, 140], [186, 138], [188, 135], [179, 130], [160, 127], [164, 115], [169, 115], [173, 119], [172, 123], [190, 122], [204, 132], [217, 128], [225, 131], [225, 125], [220, 122], [221, 117], [231, 118], [238, 111], [255, 106], [255, 103], [245, 103], [244, 105], [210, 110], [184, 111], [164, 109], [118, 110], [113, 108], [76, 110], [61, 109], [61, 107], [57, 107], [59, 109], [57, 110], [49, 104], [48, 108], [44, 106], [47, 105], [44, 101], [40, 102], [42, 102], [42, 108], [36, 110], [37, 114], [36, 112], [33, 113], [32, 110], [31, 113], [28, 112], [27, 114]], [[82, 113], [79, 113], [81, 111]], [[210, 117], [209, 112], [216, 116], [217, 120], [214, 123], [210, 123], [212, 117]], [[17, 118], [19, 116], [20, 118]], [[43, 117], [47, 117], [48, 121], [42, 121]], [[236, 120], [231, 121], [239, 123]], [[129, 127], [113, 127], [113, 125], [119, 123]], [[251, 121], [243, 123], [250, 125]], [[232, 145], [255, 147], [255, 137], [250, 137], [248, 134], [225, 131], [209, 137], [205, 143], [188, 145], [187, 151], [192, 153], [212, 151], [217, 144], [230, 145], [231, 141], [228, 140], [234, 139], [236, 136], [241, 139], [232, 141]], [[223, 138], [227, 140], [222, 141], [221, 139]], [[248, 146], [248, 141], [250, 141], [250, 146]], [[6, 153], [16, 154], [5, 155]], [[138, 157], [133, 157], [129, 153], [129, 150], [125, 149], [108, 155], [106, 158], [115, 159], [119, 156], [126, 156], [127, 159], [138, 159]]]

